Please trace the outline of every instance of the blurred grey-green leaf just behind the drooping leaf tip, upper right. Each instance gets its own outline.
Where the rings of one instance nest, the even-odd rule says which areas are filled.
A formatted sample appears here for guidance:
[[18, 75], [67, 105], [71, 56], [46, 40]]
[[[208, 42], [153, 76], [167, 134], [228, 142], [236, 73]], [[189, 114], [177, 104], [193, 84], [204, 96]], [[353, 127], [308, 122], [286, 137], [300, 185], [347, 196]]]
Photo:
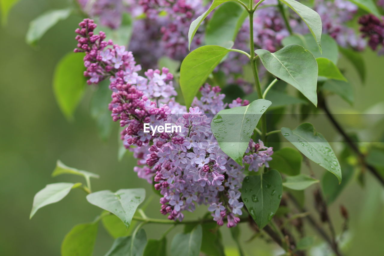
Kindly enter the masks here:
[[301, 45], [302, 47], [309, 50], [315, 58], [327, 58], [333, 63], [337, 64], [339, 57], [338, 45], [336, 41], [328, 34], [321, 35], [321, 48], [323, 49], [322, 52], [320, 52], [319, 47], [317, 46], [317, 43], [311, 34], [290, 35], [289, 37], [283, 38], [281, 43], [283, 46], [290, 44]]

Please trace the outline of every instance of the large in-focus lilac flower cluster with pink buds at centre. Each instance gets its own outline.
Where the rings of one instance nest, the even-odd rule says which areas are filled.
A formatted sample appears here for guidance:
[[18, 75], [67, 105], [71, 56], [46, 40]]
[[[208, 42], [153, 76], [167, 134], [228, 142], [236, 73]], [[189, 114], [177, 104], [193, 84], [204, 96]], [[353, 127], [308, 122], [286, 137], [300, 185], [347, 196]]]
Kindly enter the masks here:
[[[112, 118], [124, 127], [124, 145], [137, 159], [134, 171], [154, 183], [162, 194], [161, 213], [181, 221], [183, 211], [194, 211], [197, 205], [205, 204], [219, 225], [227, 218], [228, 227], [236, 226], [242, 214], [240, 189], [245, 175], [244, 167], [220, 150], [210, 130], [212, 116], [226, 107], [220, 88], [204, 85], [201, 98], [195, 98], [187, 111], [175, 102], [173, 76], [167, 68], [150, 69], [140, 76], [137, 71], [141, 67], [132, 53], [111, 41], [104, 42], [103, 32], [95, 35], [93, 20], [84, 19], [79, 26], [75, 52], [86, 53], [84, 75], [90, 77], [89, 83], [109, 77]], [[230, 106], [247, 104], [237, 99]], [[144, 123], [171, 123], [182, 126], [182, 130], [156, 131], [152, 135], [144, 133]], [[251, 140], [243, 161], [249, 171], [258, 171], [268, 166], [272, 154], [272, 148], [265, 147], [262, 141]]]

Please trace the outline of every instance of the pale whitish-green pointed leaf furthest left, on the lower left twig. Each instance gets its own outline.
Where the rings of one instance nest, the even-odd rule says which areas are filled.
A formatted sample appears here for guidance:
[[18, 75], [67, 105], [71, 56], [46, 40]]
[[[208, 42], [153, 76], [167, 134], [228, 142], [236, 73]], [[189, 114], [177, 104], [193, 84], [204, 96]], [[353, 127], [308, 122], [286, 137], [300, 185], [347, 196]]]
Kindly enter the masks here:
[[35, 194], [33, 198], [33, 206], [29, 218], [35, 215], [36, 211], [48, 204], [57, 203], [70, 193], [72, 188], [81, 186], [81, 183], [52, 183], [48, 184]]

